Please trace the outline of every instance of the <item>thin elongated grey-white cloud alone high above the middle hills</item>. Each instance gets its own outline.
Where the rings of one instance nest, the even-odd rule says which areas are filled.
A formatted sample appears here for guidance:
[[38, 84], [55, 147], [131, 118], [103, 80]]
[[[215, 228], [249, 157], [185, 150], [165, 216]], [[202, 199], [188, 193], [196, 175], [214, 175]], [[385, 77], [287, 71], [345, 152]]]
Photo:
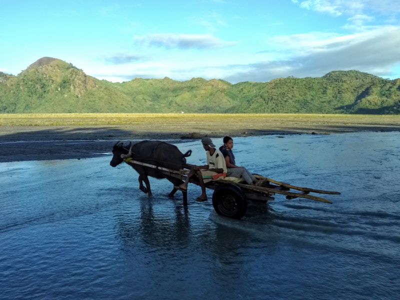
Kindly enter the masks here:
[[236, 44], [210, 34], [154, 33], [136, 36], [136, 44], [180, 49], [222, 48]]

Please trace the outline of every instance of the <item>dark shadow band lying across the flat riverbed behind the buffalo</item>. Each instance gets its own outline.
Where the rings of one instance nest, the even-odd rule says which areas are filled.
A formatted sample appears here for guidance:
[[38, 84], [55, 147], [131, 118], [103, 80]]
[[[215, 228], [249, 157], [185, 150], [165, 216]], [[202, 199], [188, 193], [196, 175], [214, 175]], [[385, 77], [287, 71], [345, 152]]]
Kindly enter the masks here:
[[[231, 136], [256, 136], [256, 135], [286, 135], [301, 133], [339, 133], [354, 131], [400, 131], [397, 124], [362, 124], [362, 125], [317, 125], [315, 128], [298, 126], [286, 129], [259, 130], [244, 128], [237, 132], [217, 133], [211, 132], [212, 137], [221, 137], [225, 134]], [[154, 132], [121, 129], [117, 127], [53, 127], [29, 131], [13, 132], [0, 136], [0, 162], [23, 160], [47, 160], [88, 158], [109, 153], [115, 141], [129, 141], [142, 139], [169, 139], [174, 142], [184, 142], [185, 133], [179, 132]], [[190, 138], [188, 138], [190, 139]]]

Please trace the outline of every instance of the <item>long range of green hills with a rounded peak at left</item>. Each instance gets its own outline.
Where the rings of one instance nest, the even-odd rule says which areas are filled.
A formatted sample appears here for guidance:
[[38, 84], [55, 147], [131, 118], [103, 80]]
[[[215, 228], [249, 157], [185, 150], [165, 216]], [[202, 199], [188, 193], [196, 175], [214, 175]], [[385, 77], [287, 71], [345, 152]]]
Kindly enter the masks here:
[[0, 113], [181, 111], [400, 113], [400, 79], [352, 70], [236, 84], [168, 77], [112, 83], [51, 57], [17, 76], [0, 72]]

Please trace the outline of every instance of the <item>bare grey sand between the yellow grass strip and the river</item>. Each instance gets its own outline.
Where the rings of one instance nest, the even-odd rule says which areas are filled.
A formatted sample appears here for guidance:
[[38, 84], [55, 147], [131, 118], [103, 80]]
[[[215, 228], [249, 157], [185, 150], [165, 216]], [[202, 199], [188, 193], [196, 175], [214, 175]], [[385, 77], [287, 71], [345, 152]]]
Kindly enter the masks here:
[[[399, 117], [400, 118], [400, 117]], [[256, 136], [267, 134], [330, 134], [356, 131], [400, 131], [396, 122], [338, 122], [301, 118], [295, 120], [244, 117], [234, 122], [218, 119], [137, 122], [123, 125], [0, 126], [0, 162], [80, 159], [109, 153], [120, 141], [142, 139], [200, 139], [203, 135]]]

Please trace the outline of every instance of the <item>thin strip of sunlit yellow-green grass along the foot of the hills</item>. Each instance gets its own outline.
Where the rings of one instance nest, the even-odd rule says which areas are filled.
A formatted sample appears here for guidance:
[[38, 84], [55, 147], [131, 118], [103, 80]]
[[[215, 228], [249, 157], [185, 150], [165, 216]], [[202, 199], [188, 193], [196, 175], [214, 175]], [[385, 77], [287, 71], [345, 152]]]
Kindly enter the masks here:
[[64, 125], [125, 125], [175, 122], [329, 122], [340, 124], [400, 125], [399, 115], [376, 114], [312, 114], [312, 113], [3, 113], [0, 125], [64, 126]]

